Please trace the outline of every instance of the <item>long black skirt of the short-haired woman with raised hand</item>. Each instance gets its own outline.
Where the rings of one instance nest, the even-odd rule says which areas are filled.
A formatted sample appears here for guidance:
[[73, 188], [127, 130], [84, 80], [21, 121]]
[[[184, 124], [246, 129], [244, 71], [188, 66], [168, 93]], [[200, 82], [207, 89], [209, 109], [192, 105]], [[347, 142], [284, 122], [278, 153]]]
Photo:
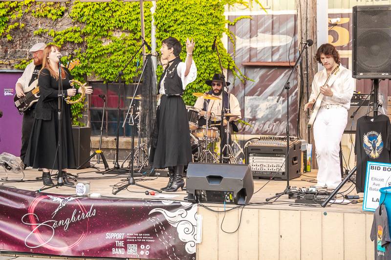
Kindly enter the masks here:
[[162, 95], [157, 111], [154, 168], [187, 165], [192, 161], [189, 120], [181, 96]]

